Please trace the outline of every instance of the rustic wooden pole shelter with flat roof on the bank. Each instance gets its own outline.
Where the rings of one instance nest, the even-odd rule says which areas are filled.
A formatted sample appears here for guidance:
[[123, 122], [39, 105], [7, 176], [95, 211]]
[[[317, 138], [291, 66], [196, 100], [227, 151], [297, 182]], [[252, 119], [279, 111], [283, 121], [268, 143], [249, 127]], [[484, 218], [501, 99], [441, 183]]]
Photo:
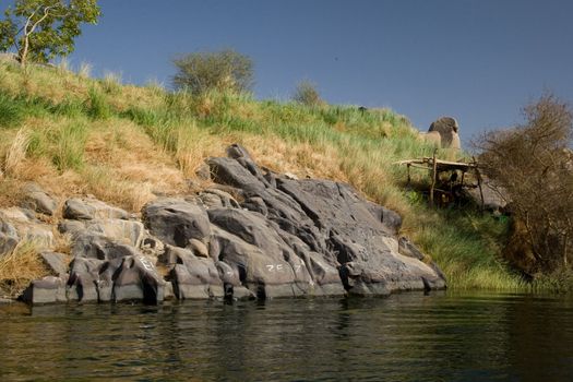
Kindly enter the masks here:
[[461, 186], [464, 187], [464, 179], [466, 172], [474, 172], [478, 182], [479, 188], [479, 195], [481, 198], [481, 210], [484, 210], [484, 190], [481, 188], [481, 174], [479, 172], [479, 167], [474, 158], [473, 162], [465, 163], [465, 162], [450, 162], [450, 160], [442, 160], [435, 158], [435, 152], [433, 153], [433, 156], [430, 157], [423, 157], [419, 159], [406, 159], [406, 160], [399, 160], [395, 163], [396, 165], [406, 165], [408, 167], [408, 184], [410, 182], [410, 167], [415, 168], [422, 168], [430, 170], [430, 177], [431, 177], [431, 183], [430, 183], [430, 205], [433, 206], [434, 204], [434, 192], [441, 191], [445, 192], [444, 190], [438, 190], [435, 188], [438, 182], [438, 176], [440, 172], [446, 172], [446, 171], [457, 171], [459, 170], [462, 172], [462, 179], [461, 179]]

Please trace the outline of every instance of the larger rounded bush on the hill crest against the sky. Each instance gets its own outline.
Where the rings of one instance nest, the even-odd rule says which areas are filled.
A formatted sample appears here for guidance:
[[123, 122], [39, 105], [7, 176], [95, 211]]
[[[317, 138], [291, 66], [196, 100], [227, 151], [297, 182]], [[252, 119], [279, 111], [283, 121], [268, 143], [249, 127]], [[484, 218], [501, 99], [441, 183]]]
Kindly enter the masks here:
[[172, 77], [175, 88], [195, 95], [210, 89], [244, 92], [253, 84], [252, 60], [231, 49], [189, 53], [174, 64], [178, 69]]

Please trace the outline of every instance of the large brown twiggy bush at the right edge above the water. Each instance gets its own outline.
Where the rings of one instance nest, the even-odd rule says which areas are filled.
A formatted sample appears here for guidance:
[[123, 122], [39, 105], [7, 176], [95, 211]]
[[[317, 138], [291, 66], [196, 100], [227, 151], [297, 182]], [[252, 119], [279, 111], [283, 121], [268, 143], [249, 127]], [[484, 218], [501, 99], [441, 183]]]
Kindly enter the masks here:
[[[524, 109], [527, 122], [477, 143], [486, 174], [504, 191], [533, 255], [526, 271], [569, 268], [573, 250], [572, 111], [548, 95]], [[515, 258], [515, 254], [514, 254]], [[525, 262], [522, 261], [522, 265]]]

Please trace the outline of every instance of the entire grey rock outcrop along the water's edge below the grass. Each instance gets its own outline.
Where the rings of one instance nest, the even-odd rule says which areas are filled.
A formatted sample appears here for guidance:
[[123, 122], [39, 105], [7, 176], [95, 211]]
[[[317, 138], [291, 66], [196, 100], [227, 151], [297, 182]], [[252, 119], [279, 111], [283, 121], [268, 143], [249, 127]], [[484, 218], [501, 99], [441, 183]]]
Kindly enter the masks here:
[[[445, 288], [441, 271], [406, 238], [401, 217], [348, 184], [260, 168], [239, 145], [199, 175], [213, 187], [159, 196], [140, 215], [89, 198], [53, 223], [71, 253], [50, 251], [57, 201], [31, 184], [25, 207], [0, 214], [0, 253], [33, 241], [52, 275], [29, 303], [387, 295]], [[51, 218], [51, 220], [56, 220]], [[71, 255], [71, 262], [69, 262]]]

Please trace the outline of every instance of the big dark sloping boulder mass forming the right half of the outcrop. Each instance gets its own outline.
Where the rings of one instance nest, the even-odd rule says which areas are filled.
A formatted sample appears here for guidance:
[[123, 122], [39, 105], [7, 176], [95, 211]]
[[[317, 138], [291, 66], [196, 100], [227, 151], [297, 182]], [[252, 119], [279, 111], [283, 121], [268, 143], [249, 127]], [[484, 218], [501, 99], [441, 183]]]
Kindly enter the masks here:
[[358, 295], [445, 287], [431, 266], [398, 252], [397, 214], [348, 184], [263, 172], [244, 148], [229, 153], [207, 160], [213, 179], [236, 188], [253, 212], [207, 211], [217, 226], [211, 255], [258, 296], [312, 295], [334, 280]]

